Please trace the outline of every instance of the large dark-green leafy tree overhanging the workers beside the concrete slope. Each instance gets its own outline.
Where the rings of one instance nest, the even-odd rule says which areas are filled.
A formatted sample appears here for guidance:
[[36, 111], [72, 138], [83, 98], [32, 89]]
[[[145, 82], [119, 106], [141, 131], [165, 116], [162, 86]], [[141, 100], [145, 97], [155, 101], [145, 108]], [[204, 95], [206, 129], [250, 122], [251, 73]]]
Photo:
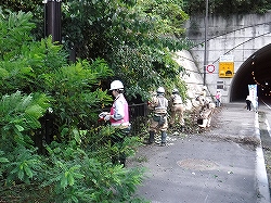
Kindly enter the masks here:
[[[80, 58], [105, 59], [126, 84], [130, 99], [138, 94], [146, 99], [157, 86], [185, 90], [180, 79], [183, 69], [172, 53], [192, 45], [177, 38], [188, 15], [178, 1], [166, 3], [69, 0], [63, 5], [64, 41], [74, 45]], [[160, 12], [162, 7], [170, 15]]]

